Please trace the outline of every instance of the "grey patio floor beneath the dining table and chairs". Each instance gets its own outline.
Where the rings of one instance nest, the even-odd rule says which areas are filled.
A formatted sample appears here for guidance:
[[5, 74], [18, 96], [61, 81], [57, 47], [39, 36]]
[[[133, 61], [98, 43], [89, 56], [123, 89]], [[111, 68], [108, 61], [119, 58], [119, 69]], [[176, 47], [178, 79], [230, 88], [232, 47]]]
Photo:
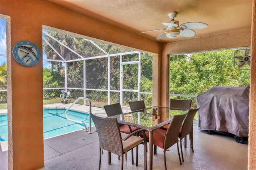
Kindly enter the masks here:
[[[44, 168], [40, 170], [97, 170], [99, 161], [98, 134], [78, 130], [44, 140]], [[183, 140], [184, 142], [184, 140]], [[237, 143], [234, 138], [223, 134], [207, 134], [194, 126], [194, 153], [183, 147], [184, 162], [179, 164], [176, 145], [166, 152], [167, 169], [172, 170], [247, 170], [248, 143]], [[183, 144], [184, 146], [184, 144]], [[158, 148], [153, 156], [153, 169], [164, 169], [164, 154]], [[102, 155], [102, 170], [119, 170], [121, 160], [112, 154], [112, 163], [107, 163], [107, 151]], [[0, 170], [8, 170], [8, 151], [0, 152]], [[135, 158], [135, 150], [134, 150]], [[127, 169], [143, 170], [143, 145], [139, 147], [138, 166], [131, 163], [128, 152]], [[125, 161], [125, 160], [124, 160]], [[135, 162], [135, 161], [134, 161]], [[126, 163], [124, 162], [124, 169]]]

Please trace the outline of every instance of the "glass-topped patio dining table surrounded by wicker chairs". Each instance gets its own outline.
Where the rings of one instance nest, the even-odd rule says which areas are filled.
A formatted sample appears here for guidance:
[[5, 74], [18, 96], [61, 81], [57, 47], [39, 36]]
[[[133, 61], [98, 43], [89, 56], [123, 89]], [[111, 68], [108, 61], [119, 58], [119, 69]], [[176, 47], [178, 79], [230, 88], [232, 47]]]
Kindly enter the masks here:
[[112, 118], [117, 118], [118, 123], [120, 124], [138, 127], [149, 131], [148, 167], [150, 170], [152, 170], [153, 165], [153, 130], [169, 124], [172, 121], [172, 117], [170, 117], [171, 112], [174, 112], [174, 114], [177, 113], [176, 110], [170, 110], [169, 107], [154, 106], [112, 116]]

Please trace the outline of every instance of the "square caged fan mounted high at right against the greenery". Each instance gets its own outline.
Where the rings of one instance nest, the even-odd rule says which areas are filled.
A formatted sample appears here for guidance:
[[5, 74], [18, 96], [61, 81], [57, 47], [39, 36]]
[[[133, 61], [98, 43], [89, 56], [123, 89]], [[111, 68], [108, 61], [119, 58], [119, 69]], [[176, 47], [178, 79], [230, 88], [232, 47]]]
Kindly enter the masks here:
[[233, 58], [234, 69], [250, 70], [250, 60], [251, 60], [250, 51], [251, 51], [250, 48], [246, 48], [246, 49], [238, 49], [234, 52], [234, 58]]

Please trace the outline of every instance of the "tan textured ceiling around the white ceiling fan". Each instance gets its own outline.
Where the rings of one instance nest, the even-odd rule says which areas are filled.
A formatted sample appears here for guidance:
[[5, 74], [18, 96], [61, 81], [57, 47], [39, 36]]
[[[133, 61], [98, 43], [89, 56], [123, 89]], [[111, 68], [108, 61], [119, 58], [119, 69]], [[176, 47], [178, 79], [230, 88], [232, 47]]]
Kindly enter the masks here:
[[148, 30], [166, 28], [168, 14], [178, 12], [175, 20], [203, 22], [207, 28], [196, 29], [196, 36], [212, 36], [226, 32], [251, 29], [252, 0], [48, 0], [96, 20], [122, 28], [157, 42], [186, 40], [179, 36], [156, 40], [165, 31]]

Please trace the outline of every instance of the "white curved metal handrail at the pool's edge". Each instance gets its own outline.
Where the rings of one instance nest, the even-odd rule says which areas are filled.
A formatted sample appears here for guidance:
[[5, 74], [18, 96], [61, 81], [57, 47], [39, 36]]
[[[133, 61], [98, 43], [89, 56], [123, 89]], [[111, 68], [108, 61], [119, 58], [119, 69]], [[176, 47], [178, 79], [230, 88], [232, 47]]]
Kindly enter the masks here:
[[[85, 132], [88, 132], [87, 127], [86, 127], [86, 125], [85, 125], [84, 122], [76, 121], [76, 120], [70, 119], [70, 118], [68, 117], [68, 110], [69, 110], [74, 104], [76, 104], [76, 102], [78, 102], [78, 101], [81, 100], [81, 99], [82, 99], [82, 100], [87, 100], [87, 101], [89, 102], [89, 113], [92, 113], [92, 105], [91, 105], [90, 99], [88, 99], [88, 98], [86, 98], [86, 97], [78, 97], [78, 98], [76, 99], [76, 101], [74, 101], [74, 103], [72, 103], [72, 105], [70, 105], [70, 107], [68, 107], [68, 109], [66, 109], [66, 111], [65, 111], [65, 116], [66, 116], [66, 119], [69, 120], [69, 121], [73, 121], [73, 122], [76, 122], [76, 123], [79, 123], [79, 124], [84, 125], [84, 131], [85, 131]], [[90, 115], [90, 114], [89, 114], [89, 115]], [[88, 132], [88, 133], [92, 133], [92, 119], [91, 119], [91, 116], [89, 116], [89, 119], [90, 119], [90, 121], [89, 121], [89, 132]]]

